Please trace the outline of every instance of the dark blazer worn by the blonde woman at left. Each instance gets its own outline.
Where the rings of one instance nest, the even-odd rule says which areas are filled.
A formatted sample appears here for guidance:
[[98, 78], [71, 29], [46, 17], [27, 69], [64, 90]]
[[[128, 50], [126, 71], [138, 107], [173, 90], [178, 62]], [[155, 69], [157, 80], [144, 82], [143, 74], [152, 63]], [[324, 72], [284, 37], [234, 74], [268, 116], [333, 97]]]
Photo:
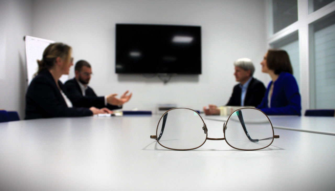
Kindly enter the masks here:
[[[65, 95], [66, 88], [58, 80]], [[25, 120], [48, 117], [90, 116], [92, 111], [84, 107], [67, 107], [56, 82], [48, 69], [44, 69], [30, 83], [25, 104]]]

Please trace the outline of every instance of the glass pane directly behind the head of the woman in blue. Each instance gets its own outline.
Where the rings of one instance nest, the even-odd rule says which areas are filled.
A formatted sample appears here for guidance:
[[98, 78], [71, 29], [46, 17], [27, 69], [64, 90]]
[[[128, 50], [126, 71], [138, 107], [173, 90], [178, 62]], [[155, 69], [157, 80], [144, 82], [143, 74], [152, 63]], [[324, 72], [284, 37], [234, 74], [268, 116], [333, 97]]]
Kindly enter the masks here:
[[283, 39], [272, 43], [272, 48], [283, 49], [287, 52], [290, 57], [290, 61], [293, 68], [293, 76], [300, 87], [300, 60], [299, 60], [299, 39], [298, 32], [294, 32]]

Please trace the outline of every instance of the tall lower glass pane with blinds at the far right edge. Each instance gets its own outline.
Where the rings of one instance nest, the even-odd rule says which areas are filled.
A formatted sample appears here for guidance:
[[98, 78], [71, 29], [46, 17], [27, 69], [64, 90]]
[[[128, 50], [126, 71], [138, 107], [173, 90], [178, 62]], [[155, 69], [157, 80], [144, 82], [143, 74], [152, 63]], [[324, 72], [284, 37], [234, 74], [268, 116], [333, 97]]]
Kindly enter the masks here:
[[[314, 98], [311, 103], [316, 109], [335, 108], [335, 16], [312, 24], [312, 45], [314, 45]], [[311, 76], [313, 76], [311, 75]], [[314, 96], [314, 97], [313, 97]]]

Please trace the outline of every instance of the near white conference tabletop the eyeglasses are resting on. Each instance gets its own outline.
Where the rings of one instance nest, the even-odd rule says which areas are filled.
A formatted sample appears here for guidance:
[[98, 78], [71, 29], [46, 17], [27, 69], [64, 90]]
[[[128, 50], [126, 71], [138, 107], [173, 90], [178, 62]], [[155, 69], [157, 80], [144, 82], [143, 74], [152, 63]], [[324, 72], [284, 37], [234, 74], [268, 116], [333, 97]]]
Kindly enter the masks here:
[[[0, 190], [334, 190], [335, 136], [275, 129], [272, 145], [240, 151], [210, 141], [161, 147], [160, 116], [0, 123]], [[205, 120], [208, 137], [223, 122]]]

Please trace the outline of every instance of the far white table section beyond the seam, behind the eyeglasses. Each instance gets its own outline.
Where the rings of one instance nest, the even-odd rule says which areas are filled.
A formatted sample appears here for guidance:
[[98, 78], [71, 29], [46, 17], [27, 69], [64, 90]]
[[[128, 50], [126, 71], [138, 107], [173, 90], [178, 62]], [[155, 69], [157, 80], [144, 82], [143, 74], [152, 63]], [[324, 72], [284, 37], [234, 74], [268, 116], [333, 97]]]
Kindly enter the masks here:
[[[204, 115], [207, 120], [226, 122], [229, 116]], [[274, 128], [335, 135], [335, 117], [269, 115]]]

